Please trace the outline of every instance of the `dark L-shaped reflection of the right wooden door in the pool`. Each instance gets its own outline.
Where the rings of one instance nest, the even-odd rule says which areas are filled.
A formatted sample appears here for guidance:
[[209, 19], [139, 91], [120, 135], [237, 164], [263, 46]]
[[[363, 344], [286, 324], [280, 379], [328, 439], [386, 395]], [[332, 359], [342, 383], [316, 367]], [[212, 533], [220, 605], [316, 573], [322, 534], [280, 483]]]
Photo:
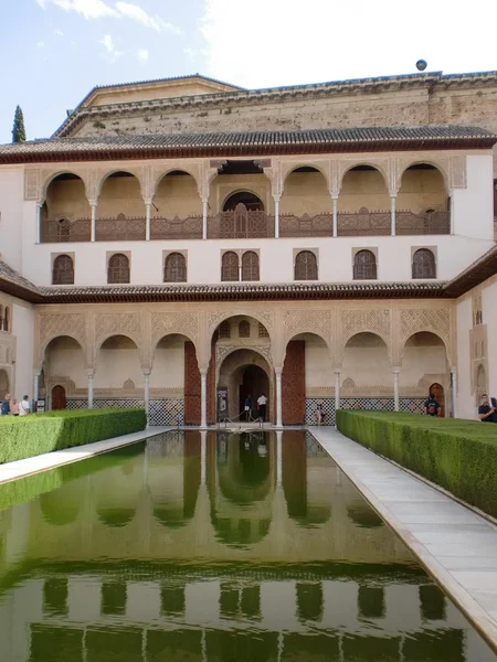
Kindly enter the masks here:
[[307, 448], [300, 431], [285, 431], [283, 442], [283, 491], [288, 516], [303, 526], [325, 524], [331, 516], [328, 503], [309, 503], [307, 495]]

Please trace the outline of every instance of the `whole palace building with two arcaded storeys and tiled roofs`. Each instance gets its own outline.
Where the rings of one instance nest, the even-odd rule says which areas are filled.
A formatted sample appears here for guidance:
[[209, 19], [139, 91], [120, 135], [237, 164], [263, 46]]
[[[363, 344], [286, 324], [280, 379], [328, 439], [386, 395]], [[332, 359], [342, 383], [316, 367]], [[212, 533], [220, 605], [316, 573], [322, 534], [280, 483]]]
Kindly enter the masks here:
[[152, 424], [497, 392], [497, 73], [94, 88], [0, 147], [0, 391]]

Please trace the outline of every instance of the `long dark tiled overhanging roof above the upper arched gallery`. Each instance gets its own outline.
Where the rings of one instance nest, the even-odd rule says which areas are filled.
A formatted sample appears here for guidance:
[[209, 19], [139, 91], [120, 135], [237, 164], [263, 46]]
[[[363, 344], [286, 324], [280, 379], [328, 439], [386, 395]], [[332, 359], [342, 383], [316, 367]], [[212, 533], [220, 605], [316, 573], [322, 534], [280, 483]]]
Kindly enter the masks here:
[[429, 125], [302, 131], [233, 131], [49, 138], [0, 146], [0, 163], [103, 161], [173, 157], [490, 149], [497, 136], [480, 127]]

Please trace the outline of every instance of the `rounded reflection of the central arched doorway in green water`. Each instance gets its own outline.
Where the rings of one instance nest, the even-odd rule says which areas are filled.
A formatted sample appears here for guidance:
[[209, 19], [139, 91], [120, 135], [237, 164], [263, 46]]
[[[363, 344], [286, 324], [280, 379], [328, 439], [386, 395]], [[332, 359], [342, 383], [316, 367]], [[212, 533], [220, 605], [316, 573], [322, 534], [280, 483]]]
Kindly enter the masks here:
[[[261, 452], [261, 449], [265, 452]], [[236, 504], [265, 499], [272, 484], [269, 435], [232, 435], [225, 452], [225, 462], [218, 463], [218, 480], [223, 496]]]

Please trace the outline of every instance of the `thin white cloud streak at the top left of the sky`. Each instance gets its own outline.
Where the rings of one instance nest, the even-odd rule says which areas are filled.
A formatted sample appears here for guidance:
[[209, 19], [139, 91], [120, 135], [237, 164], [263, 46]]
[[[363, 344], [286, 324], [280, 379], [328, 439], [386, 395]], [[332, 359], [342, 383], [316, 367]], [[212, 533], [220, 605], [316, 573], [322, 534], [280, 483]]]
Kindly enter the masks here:
[[52, 2], [64, 11], [74, 11], [85, 19], [102, 19], [105, 17], [129, 19], [144, 28], [150, 28], [157, 32], [168, 30], [169, 32], [181, 34], [181, 30], [177, 25], [168, 23], [157, 14], [154, 17], [149, 15], [138, 4], [121, 2], [120, 0], [115, 2], [114, 7], [106, 0], [36, 0], [36, 2], [43, 9], [46, 8], [49, 2]]

